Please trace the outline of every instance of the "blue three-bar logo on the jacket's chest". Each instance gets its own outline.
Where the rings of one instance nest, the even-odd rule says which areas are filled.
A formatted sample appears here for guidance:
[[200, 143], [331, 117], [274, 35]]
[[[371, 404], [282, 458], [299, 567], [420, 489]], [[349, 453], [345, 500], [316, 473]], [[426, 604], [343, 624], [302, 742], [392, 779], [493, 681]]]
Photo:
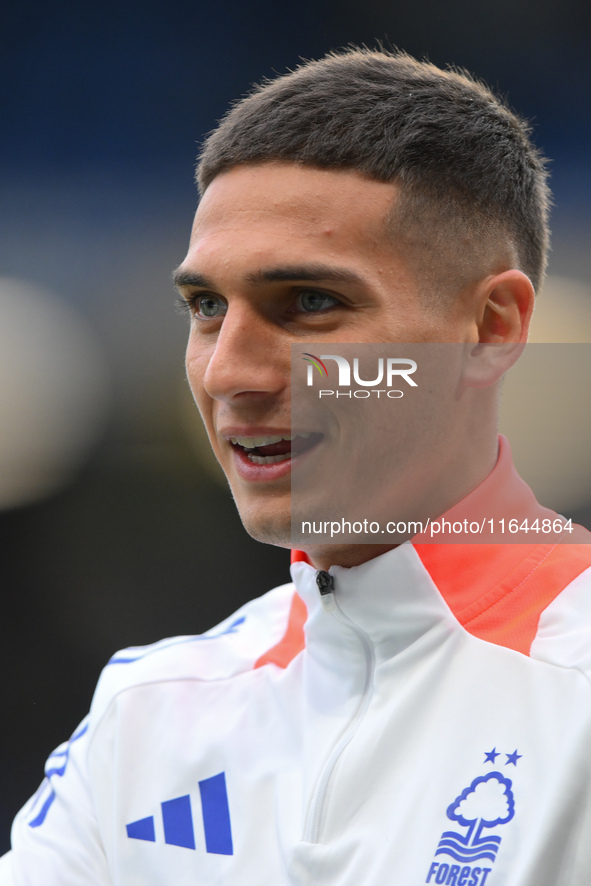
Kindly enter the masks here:
[[[225, 773], [220, 772], [218, 775], [200, 781], [199, 794], [206, 851], [216, 855], [233, 855], [234, 847]], [[195, 828], [190, 794], [165, 800], [160, 804], [160, 807], [164, 842], [170, 846], [195, 849]], [[126, 825], [126, 829], [127, 836], [132, 840], [156, 842], [153, 815], [130, 822]]]

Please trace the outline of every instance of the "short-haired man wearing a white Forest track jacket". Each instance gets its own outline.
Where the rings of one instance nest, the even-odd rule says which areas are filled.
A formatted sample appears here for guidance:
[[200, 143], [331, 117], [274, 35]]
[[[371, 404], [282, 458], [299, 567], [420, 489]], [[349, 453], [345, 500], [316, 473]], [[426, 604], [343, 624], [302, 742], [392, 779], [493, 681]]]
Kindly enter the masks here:
[[290, 544], [292, 462], [326, 444], [292, 433], [290, 346], [436, 343], [453, 421], [381, 478], [393, 510], [411, 478], [435, 516], [579, 543], [312, 541], [297, 592], [117, 654], [0, 883], [587, 884], [589, 537], [496, 437], [547, 249], [527, 127], [463, 74], [351, 50], [239, 102], [198, 174], [187, 373], [252, 535]]

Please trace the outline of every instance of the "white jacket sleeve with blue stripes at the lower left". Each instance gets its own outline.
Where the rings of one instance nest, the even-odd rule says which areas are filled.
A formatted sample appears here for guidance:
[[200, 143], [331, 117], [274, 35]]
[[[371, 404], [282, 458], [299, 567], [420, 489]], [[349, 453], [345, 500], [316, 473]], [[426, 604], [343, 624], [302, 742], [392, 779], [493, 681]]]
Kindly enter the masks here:
[[88, 721], [50, 755], [18, 813], [0, 886], [111, 886], [87, 777]]

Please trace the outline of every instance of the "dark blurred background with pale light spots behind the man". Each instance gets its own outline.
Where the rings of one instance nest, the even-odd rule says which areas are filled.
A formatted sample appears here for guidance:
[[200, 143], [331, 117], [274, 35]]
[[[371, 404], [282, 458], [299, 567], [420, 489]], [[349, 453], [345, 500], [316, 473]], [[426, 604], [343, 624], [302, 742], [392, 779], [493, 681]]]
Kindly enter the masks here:
[[[591, 341], [586, 0], [2, 0], [2, 850], [116, 649], [205, 630], [287, 580], [286, 552], [245, 535], [203, 445], [170, 273], [198, 142], [228, 103], [377, 39], [467, 67], [533, 121], [556, 202], [534, 338]], [[587, 525], [588, 381], [584, 366], [568, 379], [544, 431], [577, 441], [556, 506]], [[509, 425], [527, 427], [545, 390], [514, 398]]]

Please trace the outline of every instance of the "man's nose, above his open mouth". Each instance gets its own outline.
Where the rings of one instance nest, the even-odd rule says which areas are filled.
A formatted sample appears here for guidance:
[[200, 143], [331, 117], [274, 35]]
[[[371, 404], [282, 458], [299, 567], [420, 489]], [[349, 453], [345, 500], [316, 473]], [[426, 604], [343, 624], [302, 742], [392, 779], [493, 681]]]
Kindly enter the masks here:
[[[281, 329], [246, 305], [228, 307], [215, 341], [189, 342], [187, 370], [202, 369], [201, 384], [214, 400], [264, 399], [289, 385], [290, 351]], [[197, 373], [200, 374], [199, 372]]]

